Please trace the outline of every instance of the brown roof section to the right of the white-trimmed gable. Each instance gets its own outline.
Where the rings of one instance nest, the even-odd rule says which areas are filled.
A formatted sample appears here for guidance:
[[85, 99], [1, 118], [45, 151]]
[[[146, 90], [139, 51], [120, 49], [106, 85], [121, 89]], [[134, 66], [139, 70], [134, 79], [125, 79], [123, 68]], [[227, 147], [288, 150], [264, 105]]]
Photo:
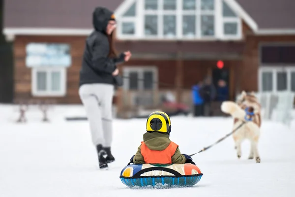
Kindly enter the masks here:
[[295, 29], [295, 0], [236, 0], [259, 30]]

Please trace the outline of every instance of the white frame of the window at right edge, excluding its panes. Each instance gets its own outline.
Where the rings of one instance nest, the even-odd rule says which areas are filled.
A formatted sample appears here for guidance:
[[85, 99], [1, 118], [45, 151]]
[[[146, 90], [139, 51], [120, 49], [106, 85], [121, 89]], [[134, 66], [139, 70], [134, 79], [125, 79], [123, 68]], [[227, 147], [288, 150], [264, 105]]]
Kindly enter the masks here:
[[[263, 91], [262, 74], [264, 72], [272, 73], [272, 91]], [[287, 90], [291, 91], [291, 72], [295, 72], [295, 66], [260, 66], [258, 76], [258, 90], [259, 92], [278, 93], [282, 91], [277, 90], [277, 72], [287, 72]]]

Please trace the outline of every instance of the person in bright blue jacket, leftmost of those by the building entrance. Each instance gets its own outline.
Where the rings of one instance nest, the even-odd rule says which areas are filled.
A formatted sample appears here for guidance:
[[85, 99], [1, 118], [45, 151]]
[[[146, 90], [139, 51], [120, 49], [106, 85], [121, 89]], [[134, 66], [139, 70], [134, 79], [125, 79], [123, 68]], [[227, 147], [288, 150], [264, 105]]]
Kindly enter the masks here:
[[192, 87], [192, 97], [194, 103], [194, 116], [204, 115], [204, 99], [202, 98], [201, 88], [203, 86], [202, 81]]

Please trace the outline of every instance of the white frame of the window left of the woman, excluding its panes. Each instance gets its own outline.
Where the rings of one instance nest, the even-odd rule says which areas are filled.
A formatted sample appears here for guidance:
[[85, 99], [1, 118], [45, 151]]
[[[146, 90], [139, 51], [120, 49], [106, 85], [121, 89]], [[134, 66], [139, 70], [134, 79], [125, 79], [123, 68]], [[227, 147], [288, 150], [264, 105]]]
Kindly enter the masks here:
[[[46, 91], [39, 91], [37, 90], [37, 72], [46, 72], [47, 74], [47, 81], [46, 84], [47, 89]], [[51, 75], [50, 73], [53, 71], [60, 72], [60, 91], [52, 91], [51, 90]], [[64, 97], [66, 95], [66, 67], [32, 67], [31, 68], [31, 87], [32, 87], [32, 96], [34, 97]]]

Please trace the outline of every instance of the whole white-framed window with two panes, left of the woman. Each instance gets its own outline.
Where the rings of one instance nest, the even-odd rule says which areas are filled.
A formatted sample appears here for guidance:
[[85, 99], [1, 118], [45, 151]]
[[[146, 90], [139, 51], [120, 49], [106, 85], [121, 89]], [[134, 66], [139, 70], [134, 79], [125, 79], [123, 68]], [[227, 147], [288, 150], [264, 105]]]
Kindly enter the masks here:
[[36, 67], [32, 68], [33, 96], [64, 96], [65, 68]]

